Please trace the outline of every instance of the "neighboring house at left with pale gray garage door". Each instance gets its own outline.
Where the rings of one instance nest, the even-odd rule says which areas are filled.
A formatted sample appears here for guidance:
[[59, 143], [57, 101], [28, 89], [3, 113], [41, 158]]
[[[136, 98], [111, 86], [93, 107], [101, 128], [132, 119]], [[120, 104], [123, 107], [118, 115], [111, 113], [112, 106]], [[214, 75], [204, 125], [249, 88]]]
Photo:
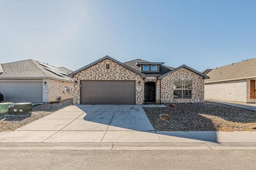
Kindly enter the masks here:
[[72, 98], [73, 81], [67, 68], [34, 60], [0, 64], [4, 102], [48, 103]]

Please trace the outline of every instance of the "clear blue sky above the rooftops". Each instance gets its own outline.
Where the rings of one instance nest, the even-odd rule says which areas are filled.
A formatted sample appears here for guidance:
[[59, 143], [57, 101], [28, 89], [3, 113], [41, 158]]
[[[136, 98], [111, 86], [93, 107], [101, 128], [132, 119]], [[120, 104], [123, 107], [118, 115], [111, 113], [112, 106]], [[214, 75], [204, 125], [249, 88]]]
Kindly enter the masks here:
[[256, 57], [256, 0], [0, 0], [0, 63], [106, 55], [198, 71]]

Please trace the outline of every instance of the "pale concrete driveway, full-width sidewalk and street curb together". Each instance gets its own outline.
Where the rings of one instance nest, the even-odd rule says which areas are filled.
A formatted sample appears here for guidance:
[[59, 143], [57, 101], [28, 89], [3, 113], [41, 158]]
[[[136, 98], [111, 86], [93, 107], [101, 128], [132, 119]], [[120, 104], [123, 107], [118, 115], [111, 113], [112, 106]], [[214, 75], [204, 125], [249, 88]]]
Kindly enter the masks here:
[[0, 133], [0, 149], [21, 149], [21, 145], [42, 146], [42, 149], [88, 146], [86, 149], [247, 147], [256, 150], [256, 131], [154, 131], [140, 105], [76, 105], [16, 131]]

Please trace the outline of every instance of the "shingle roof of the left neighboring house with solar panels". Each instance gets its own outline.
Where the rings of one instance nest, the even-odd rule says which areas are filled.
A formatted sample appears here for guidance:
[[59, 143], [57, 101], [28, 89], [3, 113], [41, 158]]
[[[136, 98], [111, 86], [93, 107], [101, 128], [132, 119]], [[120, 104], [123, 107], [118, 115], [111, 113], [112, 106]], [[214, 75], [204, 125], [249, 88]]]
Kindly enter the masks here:
[[64, 67], [57, 68], [30, 59], [0, 64], [0, 79], [53, 78], [71, 82], [72, 79], [67, 76], [67, 71], [72, 72]]

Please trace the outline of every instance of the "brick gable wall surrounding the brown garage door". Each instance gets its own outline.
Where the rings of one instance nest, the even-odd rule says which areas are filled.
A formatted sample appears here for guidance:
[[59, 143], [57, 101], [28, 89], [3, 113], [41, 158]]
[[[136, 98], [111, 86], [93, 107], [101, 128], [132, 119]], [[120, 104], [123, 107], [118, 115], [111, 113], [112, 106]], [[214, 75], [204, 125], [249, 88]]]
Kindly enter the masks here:
[[[106, 64], [110, 64], [109, 70], [106, 70]], [[74, 85], [74, 104], [80, 104], [80, 80], [136, 80], [136, 89], [144, 86], [140, 74], [137, 74], [110, 59], [101, 61], [100, 63], [74, 74], [73, 80], [78, 82], [77, 85]], [[138, 81], [141, 82], [140, 86], [138, 86]], [[142, 90], [136, 90], [136, 104], [143, 103], [142, 94]]]

